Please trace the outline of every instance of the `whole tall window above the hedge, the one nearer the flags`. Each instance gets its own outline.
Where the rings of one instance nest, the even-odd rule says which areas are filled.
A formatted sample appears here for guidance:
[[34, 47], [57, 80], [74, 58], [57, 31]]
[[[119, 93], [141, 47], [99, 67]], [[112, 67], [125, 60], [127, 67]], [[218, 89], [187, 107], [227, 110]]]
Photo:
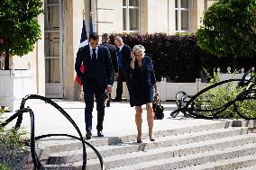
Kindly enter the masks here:
[[140, 30], [140, 1], [123, 0], [123, 31]]

